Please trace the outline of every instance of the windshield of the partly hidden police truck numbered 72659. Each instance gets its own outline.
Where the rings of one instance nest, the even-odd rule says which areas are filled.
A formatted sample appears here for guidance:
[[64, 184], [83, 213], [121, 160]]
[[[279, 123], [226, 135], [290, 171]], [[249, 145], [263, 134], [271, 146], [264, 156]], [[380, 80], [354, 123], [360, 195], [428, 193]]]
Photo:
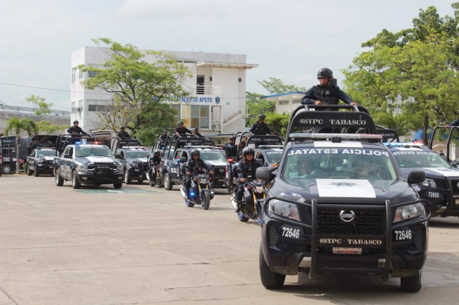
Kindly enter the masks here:
[[392, 154], [400, 168], [451, 168], [435, 151], [428, 150], [396, 150]]

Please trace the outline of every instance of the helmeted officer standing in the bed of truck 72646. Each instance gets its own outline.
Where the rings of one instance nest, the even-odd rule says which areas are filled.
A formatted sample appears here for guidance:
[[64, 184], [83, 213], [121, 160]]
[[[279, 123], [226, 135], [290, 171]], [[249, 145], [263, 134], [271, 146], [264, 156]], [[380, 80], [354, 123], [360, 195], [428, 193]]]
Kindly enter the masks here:
[[302, 98], [302, 104], [309, 105], [338, 105], [341, 101], [344, 101], [349, 105], [357, 105], [356, 102], [345, 94], [340, 87], [332, 85], [330, 80], [333, 79], [333, 71], [329, 68], [321, 68], [318, 70], [317, 79], [319, 85], [311, 87]]

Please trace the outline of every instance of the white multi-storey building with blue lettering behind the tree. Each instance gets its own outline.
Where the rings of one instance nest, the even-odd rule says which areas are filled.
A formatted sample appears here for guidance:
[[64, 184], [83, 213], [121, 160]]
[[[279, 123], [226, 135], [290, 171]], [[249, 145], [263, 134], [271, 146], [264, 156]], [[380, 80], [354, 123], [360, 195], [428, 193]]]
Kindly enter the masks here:
[[[71, 54], [71, 121], [78, 120], [86, 132], [95, 130], [97, 108], [112, 103], [103, 89], [88, 90], [81, 81], [91, 77], [78, 70], [79, 65], [102, 67], [108, 48], [84, 46]], [[184, 87], [190, 96], [170, 102], [177, 110], [177, 121], [189, 129], [199, 127], [204, 133], [228, 133], [245, 130], [246, 70], [258, 65], [246, 63], [244, 54], [167, 51], [193, 74]], [[153, 62], [151, 55], [143, 60]], [[174, 126], [175, 128], [176, 126]]]

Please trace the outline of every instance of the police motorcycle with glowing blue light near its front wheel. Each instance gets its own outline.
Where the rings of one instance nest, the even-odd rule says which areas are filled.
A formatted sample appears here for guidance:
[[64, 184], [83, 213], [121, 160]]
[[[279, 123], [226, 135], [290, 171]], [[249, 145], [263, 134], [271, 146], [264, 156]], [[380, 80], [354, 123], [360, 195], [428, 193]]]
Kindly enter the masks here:
[[[186, 163], [186, 158], [181, 158], [181, 163]], [[183, 175], [183, 173], [181, 173]], [[213, 189], [210, 188], [209, 173], [192, 174], [190, 176], [191, 186], [188, 194], [185, 193], [185, 188], [181, 187], [181, 196], [185, 199], [185, 204], [192, 208], [195, 204], [201, 205], [203, 210], [208, 210], [210, 207], [210, 199], [213, 199]], [[188, 199], [186, 199], [188, 195]]]

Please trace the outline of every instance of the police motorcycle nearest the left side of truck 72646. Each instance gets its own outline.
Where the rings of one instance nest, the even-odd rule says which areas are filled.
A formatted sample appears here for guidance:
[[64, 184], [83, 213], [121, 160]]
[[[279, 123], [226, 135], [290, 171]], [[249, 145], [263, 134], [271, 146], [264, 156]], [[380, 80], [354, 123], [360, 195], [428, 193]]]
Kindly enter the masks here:
[[234, 191], [231, 203], [239, 220], [245, 223], [247, 220], [253, 219], [260, 223], [261, 211], [266, 199], [266, 182], [253, 179], [251, 175], [248, 175], [246, 182], [244, 182], [244, 194], [239, 209], [237, 208], [236, 192], [237, 189]]

